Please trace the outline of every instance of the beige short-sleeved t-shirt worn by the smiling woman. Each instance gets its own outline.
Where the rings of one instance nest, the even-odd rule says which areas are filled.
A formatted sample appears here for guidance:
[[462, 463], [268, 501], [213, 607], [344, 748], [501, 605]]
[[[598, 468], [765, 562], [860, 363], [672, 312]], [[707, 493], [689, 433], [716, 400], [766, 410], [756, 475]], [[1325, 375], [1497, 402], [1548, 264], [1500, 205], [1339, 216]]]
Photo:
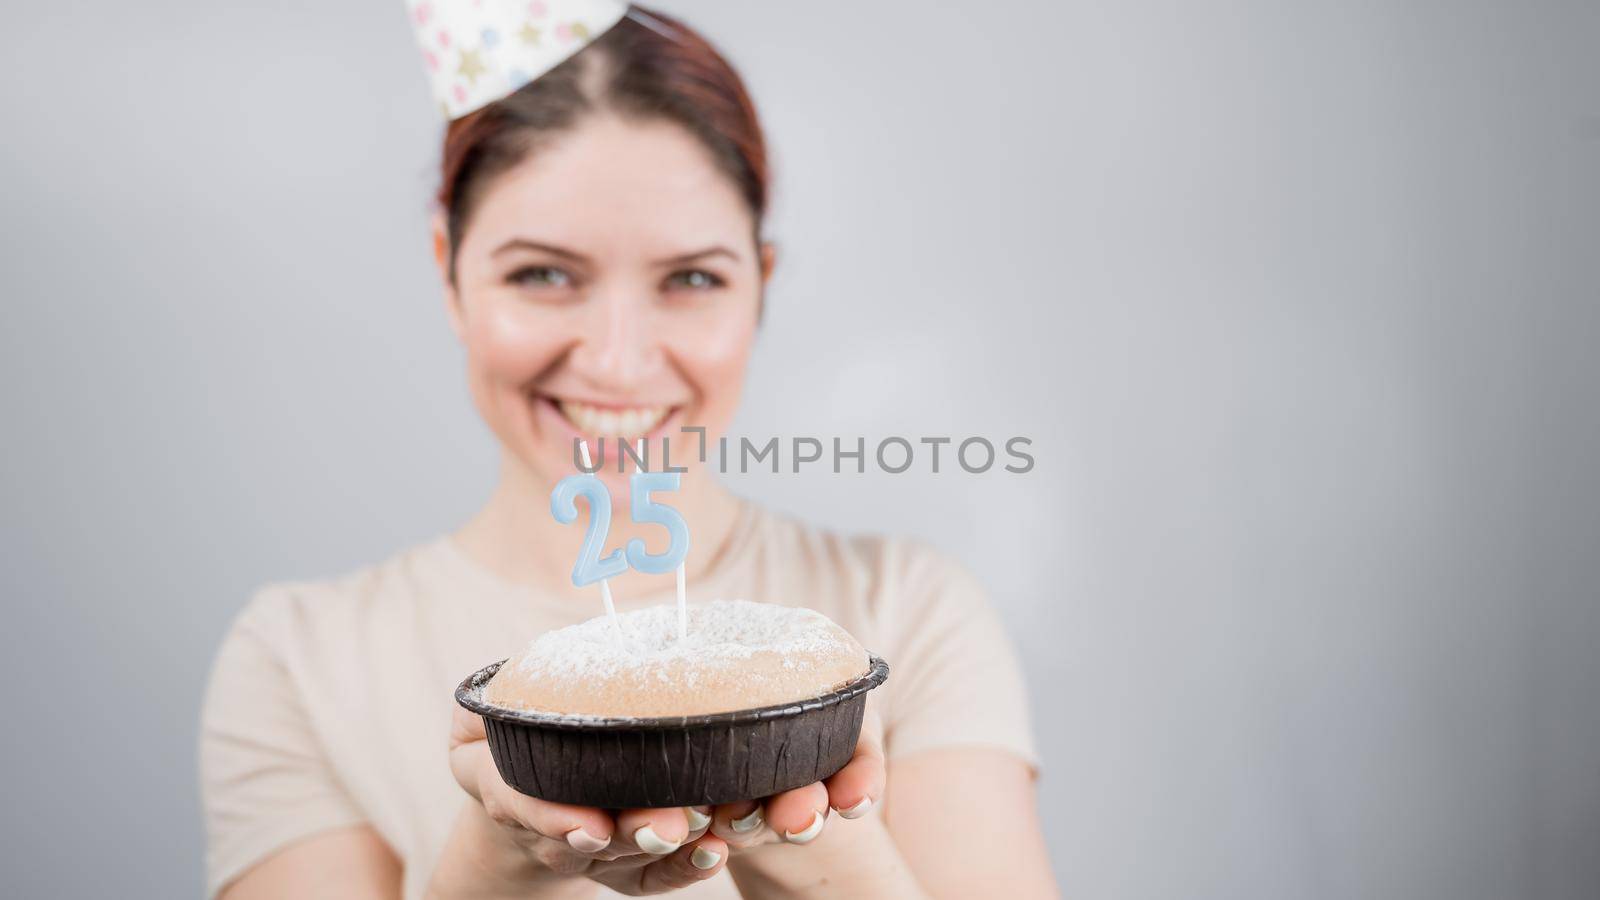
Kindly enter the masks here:
[[[712, 572], [690, 585], [690, 602], [715, 597], [816, 609], [888, 660], [874, 703], [891, 765], [950, 745], [1037, 765], [1011, 645], [982, 588], [936, 552], [746, 504]], [[622, 610], [670, 601], [670, 589], [616, 599]], [[456, 685], [598, 607], [510, 585], [448, 536], [261, 589], [218, 652], [202, 713], [208, 890], [294, 841], [368, 823], [403, 860], [405, 897], [421, 897], [466, 802], [446, 761]], [[683, 895], [738, 890], [720, 873]]]

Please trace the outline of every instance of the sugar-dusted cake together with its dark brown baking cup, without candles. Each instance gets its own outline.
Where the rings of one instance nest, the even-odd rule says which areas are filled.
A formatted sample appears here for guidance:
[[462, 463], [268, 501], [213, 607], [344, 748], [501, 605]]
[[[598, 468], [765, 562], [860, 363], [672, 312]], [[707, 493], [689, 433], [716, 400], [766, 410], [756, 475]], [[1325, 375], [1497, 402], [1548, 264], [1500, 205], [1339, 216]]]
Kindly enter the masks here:
[[[618, 639], [621, 629], [621, 641]], [[512, 788], [598, 809], [725, 804], [850, 762], [867, 692], [890, 676], [802, 607], [651, 607], [541, 634], [456, 687]]]

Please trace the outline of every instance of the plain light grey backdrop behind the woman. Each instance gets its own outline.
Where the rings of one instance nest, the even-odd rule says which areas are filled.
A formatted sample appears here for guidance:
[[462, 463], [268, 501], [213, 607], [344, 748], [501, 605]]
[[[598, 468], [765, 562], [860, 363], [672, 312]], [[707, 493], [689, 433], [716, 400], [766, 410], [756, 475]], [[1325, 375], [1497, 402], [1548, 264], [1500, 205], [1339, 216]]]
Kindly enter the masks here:
[[[1600, 892], [1594, 3], [670, 3], [762, 104], [742, 477], [923, 535], [1027, 665], [1078, 897]], [[200, 890], [250, 591], [461, 522], [398, 0], [8, 3], [3, 894]], [[107, 753], [110, 751], [110, 753]]]

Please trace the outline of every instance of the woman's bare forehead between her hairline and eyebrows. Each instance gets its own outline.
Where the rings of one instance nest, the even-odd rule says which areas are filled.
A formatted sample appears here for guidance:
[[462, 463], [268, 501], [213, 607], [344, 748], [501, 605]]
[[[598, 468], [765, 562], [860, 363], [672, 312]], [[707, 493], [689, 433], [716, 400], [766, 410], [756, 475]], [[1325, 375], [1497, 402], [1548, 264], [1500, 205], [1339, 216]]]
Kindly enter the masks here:
[[749, 242], [754, 219], [733, 179], [688, 130], [602, 114], [544, 141], [490, 184], [462, 251], [510, 237], [586, 253]]

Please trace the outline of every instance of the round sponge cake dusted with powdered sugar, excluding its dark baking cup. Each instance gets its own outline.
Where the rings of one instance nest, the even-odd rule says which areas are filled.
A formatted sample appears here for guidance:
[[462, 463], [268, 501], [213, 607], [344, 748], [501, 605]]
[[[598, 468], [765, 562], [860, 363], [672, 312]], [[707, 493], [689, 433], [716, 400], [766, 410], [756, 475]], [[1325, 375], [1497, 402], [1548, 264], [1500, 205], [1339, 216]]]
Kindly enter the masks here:
[[821, 697], [864, 676], [867, 650], [826, 615], [776, 604], [675, 605], [549, 631], [506, 661], [483, 700], [568, 716], [701, 716]]

